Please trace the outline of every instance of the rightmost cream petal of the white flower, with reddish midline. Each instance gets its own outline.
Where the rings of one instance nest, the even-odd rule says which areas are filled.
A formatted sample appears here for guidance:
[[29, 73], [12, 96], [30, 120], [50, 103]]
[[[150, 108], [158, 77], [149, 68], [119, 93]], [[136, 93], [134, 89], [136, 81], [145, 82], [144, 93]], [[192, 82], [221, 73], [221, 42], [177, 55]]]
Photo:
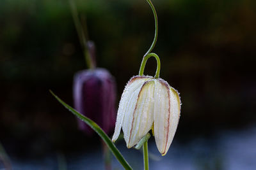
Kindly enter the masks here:
[[154, 134], [159, 152], [165, 155], [172, 143], [180, 117], [178, 92], [162, 79], [155, 80]]

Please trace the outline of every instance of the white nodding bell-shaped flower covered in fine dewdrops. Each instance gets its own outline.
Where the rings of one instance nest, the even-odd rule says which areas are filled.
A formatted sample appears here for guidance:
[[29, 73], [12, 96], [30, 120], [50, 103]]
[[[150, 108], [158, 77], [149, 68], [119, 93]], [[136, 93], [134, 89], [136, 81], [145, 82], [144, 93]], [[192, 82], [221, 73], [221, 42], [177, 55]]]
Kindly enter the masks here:
[[134, 76], [122, 94], [112, 141], [116, 141], [122, 127], [127, 148], [131, 148], [153, 128], [154, 123], [157, 148], [165, 155], [179, 117], [180, 97], [177, 90], [161, 78]]

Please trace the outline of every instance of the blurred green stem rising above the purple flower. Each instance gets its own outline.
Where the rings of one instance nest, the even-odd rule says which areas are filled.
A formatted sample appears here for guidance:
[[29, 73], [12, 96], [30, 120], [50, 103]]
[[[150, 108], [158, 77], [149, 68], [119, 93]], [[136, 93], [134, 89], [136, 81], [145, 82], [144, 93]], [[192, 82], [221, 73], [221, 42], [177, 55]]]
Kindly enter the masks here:
[[[81, 24], [81, 22], [79, 20], [76, 4], [74, 3], [74, 0], [69, 0], [69, 3], [70, 3], [70, 8], [71, 8], [71, 13], [72, 13], [72, 17], [74, 20], [74, 24], [76, 26], [77, 35], [78, 35], [80, 44], [83, 48], [84, 59], [85, 59], [86, 65], [89, 69], [94, 69], [95, 63], [93, 63], [92, 56], [90, 56], [90, 52], [88, 51], [88, 45], [87, 45], [87, 41], [86, 41], [86, 33], [84, 33], [86, 31], [84, 31], [83, 25]], [[86, 24], [84, 24], [84, 25], [86, 25]]]

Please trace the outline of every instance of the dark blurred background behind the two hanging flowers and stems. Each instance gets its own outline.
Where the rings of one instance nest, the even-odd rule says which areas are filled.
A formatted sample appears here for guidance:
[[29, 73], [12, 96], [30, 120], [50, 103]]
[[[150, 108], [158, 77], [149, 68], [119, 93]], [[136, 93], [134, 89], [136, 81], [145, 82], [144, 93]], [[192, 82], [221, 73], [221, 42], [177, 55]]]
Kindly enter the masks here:
[[[159, 166], [179, 159], [170, 168], [233, 169], [236, 159], [244, 154], [241, 168], [256, 168], [256, 131], [252, 130], [256, 122], [256, 1], [153, 3], [159, 18], [153, 52], [161, 58], [160, 77], [180, 92], [182, 111], [168, 155], [162, 162], [152, 162]], [[152, 11], [144, 0], [77, 0], [76, 4], [79, 14], [86, 17], [89, 38], [97, 46], [97, 65], [116, 78], [117, 108], [125, 84], [138, 74], [154, 38]], [[68, 1], [0, 1], [0, 141], [13, 169], [58, 169], [58, 155], [64, 155], [68, 165], [74, 164], [72, 157], [81, 155], [81, 160], [86, 160], [88, 153], [100, 155], [99, 138], [78, 131], [76, 118], [49, 93], [51, 89], [73, 105], [73, 75], [82, 69], [86, 64]], [[149, 59], [145, 74], [154, 76], [155, 71], [156, 61]], [[244, 153], [240, 139], [249, 141], [249, 153]], [[222, 141], [227, 146], [236, 141], [234, 149], [240, 150], [221, 152], [226, 145], [216, 143]], [[155, 150], [154, 138], [150, 143]], [[140, 169], [142, 155], [124, 145], [120, 141], [125, 153], [141, 159]], [[199, 149], [191, 150], [195, 146]], [[56, 161], [44, 167], [45, 157], [55, 154]], [[227, 154], [237, 157], [230, 159]], [[38, 161], [35, 167], [30, 160]], [[132, 165], [139, 164], [130, 160]], [[114, 164], [118, 166], [118, 162]], [[188, 168], [181, 168], [186, 164]]]

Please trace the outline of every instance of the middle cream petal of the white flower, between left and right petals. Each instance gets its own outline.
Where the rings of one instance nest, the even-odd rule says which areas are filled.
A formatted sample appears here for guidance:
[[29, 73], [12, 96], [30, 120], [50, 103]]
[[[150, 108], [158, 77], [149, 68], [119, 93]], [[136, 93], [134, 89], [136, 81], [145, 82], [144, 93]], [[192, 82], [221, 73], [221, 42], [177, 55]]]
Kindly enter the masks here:
[[150, 131], [154, 121], [154, 81], [143, 83], [132, 113], [132, 124], [127, 148], [136, 145]]

